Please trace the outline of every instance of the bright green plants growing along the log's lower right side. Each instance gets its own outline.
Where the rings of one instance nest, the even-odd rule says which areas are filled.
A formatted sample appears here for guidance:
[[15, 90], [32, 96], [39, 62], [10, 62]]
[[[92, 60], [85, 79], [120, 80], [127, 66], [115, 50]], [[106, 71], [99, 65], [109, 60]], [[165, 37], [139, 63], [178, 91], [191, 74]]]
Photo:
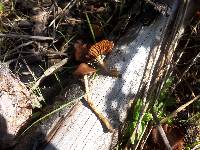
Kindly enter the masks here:
[[[127, 141], [125, 142], [126, 145], [137, 144], [136, 147], [138, 146], [143, 135], [147, 131], [148, 125], [150, 123], [154, 124], [152, 111], [157, 114], [158, 120], [163, 119], [167, 115], [166, 107], [174, 105], [176, 102], [175, 98], [170, 96], [172, 83], [173, 78], [168, 78], [165, 81], [157, 100], [154, 102], [154, 105], [149, 106], [151, 107], [149, 109], [144, 109], [146, 103], [143, 99], [138, 98], [134, 100], [132, 113], [123, 133], [123, 139]], [[167, 123], [171, 123], [172, 120], [169, 120]], [[122, 143], [124, 143], [124, 141], [122, 141]], [[118, 145], [119, 149], [121, 149], [121, 145]]]

